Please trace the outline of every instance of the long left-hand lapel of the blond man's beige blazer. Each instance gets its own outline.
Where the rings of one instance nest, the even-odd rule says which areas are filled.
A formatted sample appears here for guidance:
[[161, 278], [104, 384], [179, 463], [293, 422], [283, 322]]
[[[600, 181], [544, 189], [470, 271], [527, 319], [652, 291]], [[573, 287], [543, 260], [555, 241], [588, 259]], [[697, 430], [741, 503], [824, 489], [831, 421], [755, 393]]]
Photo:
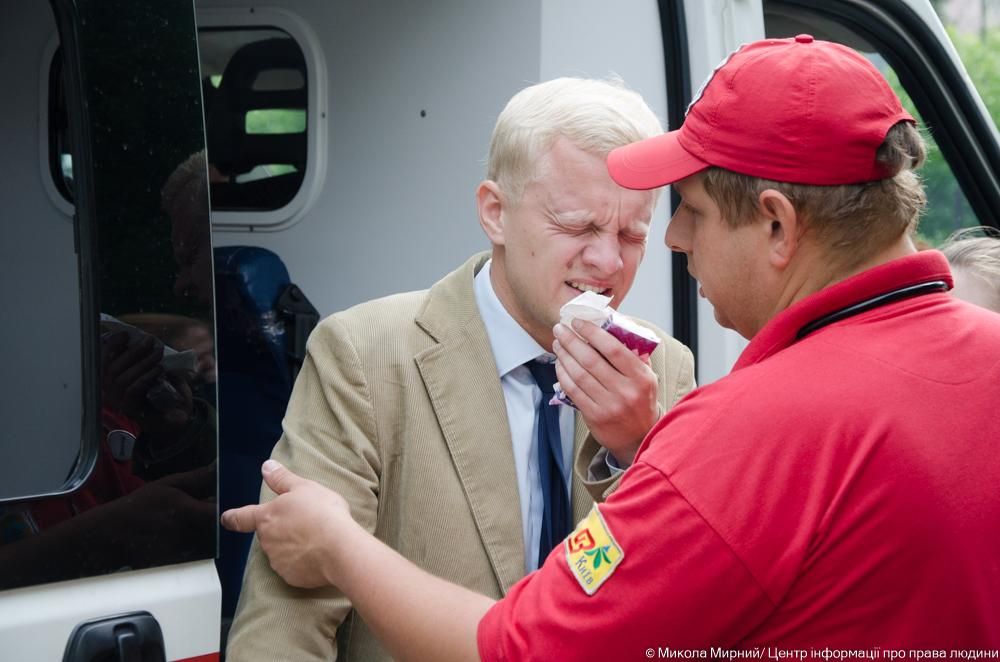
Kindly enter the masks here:
[[438, 344], [415, 357], [501, 587], [524, 575], [507, 408], [472, 281], [479, 255], [431, 289], [417, 324]]

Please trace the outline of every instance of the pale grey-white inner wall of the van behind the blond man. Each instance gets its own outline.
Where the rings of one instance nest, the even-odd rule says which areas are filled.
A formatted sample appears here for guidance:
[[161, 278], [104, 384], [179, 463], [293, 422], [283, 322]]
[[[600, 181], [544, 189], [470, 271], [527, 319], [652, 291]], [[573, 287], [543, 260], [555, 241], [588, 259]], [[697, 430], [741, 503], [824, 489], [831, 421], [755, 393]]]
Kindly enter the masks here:
[[[199, 10], [230, 8], [226, 0]], [[428, 287], [489, 244], [474, 192], [499, 111], [557, 76], [621, 76], [666, 115], [656, 4], [628, 0], [468, 3], [293, 2], [320, 42], [328, 94], [325, 179], [301, 219], [276, 232], [227, 228], [216, 245], [278, 253], [320, 313]], [[320, 27], [321, 26], [321, 27]], [[421, 113], [424, 113], [422, 116]], [[312, 157], [312, 155], [310, 155]], [[663, 196], [623, 310], [672, 325]], [[229, 222], [227, 217], [227, 223]]]

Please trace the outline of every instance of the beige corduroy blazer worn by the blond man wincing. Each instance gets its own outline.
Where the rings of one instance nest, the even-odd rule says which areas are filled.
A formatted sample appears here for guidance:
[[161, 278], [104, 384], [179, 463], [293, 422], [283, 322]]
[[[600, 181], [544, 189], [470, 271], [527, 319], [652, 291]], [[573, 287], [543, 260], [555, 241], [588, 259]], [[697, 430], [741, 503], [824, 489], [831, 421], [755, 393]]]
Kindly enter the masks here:
[[[420, 567], [499, 598], [524, 575], [524, 545], [503, 390], [473, 294], [487, 257], [430, 290], [324, 320], [273, 457], [343, 494], [358, 522]], [[665, 411], [692, 388], [693, 361], [659, 333], [650, 358]], [[579, 520], [612, 482], [581, 480], [599, 447], [579, 415], [574, 444]], [[262, 501], [273, 496], [263, 488]], [[344, 596], [289, 587], [255, 539], [228, 658], [332, 660], [338, 650], [340, 660], [388, 659]]]

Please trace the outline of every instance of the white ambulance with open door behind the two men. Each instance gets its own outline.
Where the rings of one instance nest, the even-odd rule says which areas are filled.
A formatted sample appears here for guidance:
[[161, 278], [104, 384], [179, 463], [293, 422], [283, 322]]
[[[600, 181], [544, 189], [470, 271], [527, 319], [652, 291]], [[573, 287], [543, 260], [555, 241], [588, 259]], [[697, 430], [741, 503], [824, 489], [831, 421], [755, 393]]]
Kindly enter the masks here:
[[[249, 538], [217, 513], [256, 500], [309, 330], [488, 248], [506, 101], [614, 76], [676, 128], [728, 53], [799, 34], [919, 115], [930, 243], [1000, 227], [926, 0], [0, 0], [0, 659], [223, 659]], [[745, 341], [663, 247], [674, 204], [623, 310], [708, 383]]]

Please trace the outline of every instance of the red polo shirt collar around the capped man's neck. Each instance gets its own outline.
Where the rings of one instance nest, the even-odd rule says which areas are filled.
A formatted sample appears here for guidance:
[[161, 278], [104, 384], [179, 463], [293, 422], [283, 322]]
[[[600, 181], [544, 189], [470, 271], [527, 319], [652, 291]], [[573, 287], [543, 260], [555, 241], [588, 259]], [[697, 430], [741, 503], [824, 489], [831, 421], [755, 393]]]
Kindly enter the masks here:
[[813, 320], [894, 289], [933, 280], [943, 280], [948, 287], [952, 286], [951, 270], [944, 255], [926, 250], [825, 287], [795, 302], [765, 324], [740, 354], [733, 371], [759, 363], [792, 345], [799, 329]]

